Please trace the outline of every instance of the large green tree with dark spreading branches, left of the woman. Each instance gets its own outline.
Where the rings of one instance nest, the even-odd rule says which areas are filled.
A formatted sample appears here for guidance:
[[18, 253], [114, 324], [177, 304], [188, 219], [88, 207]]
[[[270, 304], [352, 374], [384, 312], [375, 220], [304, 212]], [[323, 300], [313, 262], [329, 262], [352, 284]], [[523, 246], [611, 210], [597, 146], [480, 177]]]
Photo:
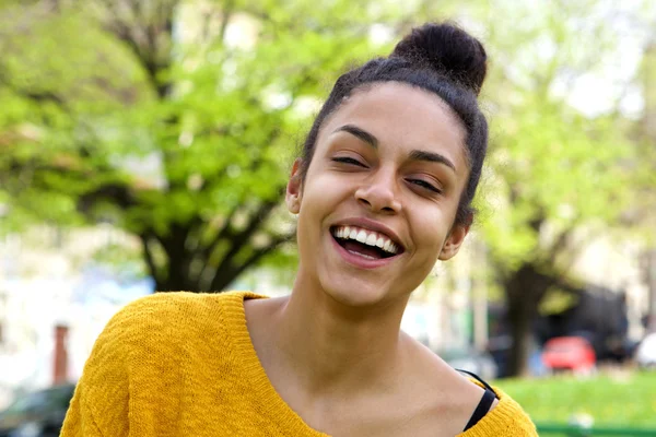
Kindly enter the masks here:
[[302, 128], [372, 49], [349, 1], [1, 11], [3, 226], [110, 222], [160, 291], [221, 291], [292, 238], [280, 199]]

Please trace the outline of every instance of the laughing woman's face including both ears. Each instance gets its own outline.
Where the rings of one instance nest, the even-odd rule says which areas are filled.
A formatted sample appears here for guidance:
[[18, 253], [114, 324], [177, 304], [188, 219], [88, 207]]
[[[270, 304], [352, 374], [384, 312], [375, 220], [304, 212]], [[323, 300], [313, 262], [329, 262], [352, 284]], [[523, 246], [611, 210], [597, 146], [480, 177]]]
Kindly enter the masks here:
[[407, 298], [454, 226], [469, 168], [465, 130], [437, 96], [387, 82], [356, 91], [324, 121], [305, 180], [288, 186], [298, 214], [298, 274], [349, 306]]

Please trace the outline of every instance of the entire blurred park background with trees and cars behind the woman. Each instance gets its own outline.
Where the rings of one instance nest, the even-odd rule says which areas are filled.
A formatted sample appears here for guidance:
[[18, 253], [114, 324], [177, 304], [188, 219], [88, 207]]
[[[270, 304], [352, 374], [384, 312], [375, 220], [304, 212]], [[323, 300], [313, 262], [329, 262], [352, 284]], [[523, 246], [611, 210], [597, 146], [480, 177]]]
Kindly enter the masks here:
[[464, 3], [2, 0], [0, 435], [57, 435], [140, 296], [289, 293], [281, 192], [313, 116], [450, 19], [490, 56], [488, 166], [403, 328], [541, 434], [656, 436], [656, 2]]

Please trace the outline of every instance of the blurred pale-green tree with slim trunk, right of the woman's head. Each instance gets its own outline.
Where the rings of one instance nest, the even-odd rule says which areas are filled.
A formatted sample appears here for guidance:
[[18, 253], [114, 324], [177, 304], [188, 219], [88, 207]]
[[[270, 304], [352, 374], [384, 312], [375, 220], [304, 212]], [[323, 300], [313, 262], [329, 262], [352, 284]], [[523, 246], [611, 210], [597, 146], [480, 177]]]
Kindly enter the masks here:
[[576, 288], [577, 248], [620, 223], [636, 160], [618, 102], [606, 110], [587, 105], [587, 114], [572, 104], [573, 90], [622, 49], [621, 32], [607, 25], [621, 11], [598, 2], [503, 4], [488, 23], [494, 68], [484, 190], [494, 211], [482, 228], [512, 329], [509, 373], [520, 375], [541, 302]]

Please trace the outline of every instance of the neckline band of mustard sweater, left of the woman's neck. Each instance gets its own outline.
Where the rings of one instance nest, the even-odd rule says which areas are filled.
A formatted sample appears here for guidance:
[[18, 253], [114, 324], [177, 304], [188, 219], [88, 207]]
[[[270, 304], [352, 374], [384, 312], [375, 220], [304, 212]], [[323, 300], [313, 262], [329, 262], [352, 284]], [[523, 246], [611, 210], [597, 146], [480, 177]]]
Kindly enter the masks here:
[[[244, 302], [248, 299], [267, 298], [249, 292], [226, 293], [230, 296], [229, 311], [225, 317], [231, 318], [227, 333], [231, 335], [233, 345], [241, 361], [241, 367], [244, 370], [244, 378], [250, 382], [256, 398], [259, 399], [259, 409], [263, 415], [271, 417], [285, 429], [296, 429], [298, 435], [308, 437], [330, 437], [328, 434], [320, 433], [309, 425], [280, 397], [276, 388], [269, 380], [267, 373], [257, 356], [248, 327], [246, 324], [246, 310]], [[226, 296], [227, 297], [227, 296]]]

